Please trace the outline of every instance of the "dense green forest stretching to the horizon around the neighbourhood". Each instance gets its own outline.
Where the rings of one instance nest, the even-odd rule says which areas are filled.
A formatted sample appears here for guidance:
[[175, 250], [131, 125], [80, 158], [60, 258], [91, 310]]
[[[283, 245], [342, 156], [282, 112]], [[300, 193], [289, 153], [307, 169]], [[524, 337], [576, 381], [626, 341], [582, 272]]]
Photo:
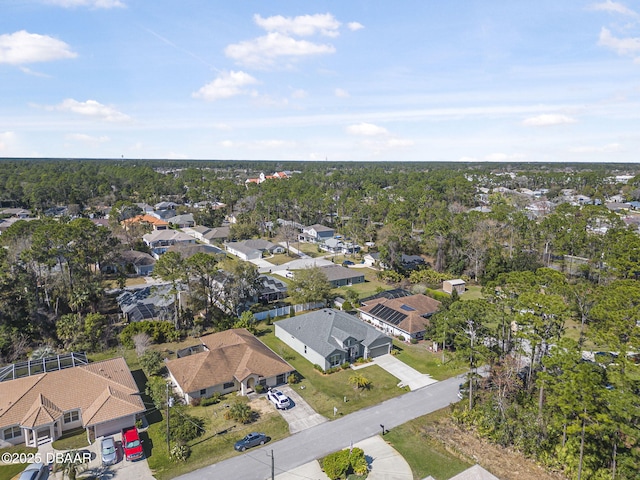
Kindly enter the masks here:
[[[245, 182], [276, 171], [289, 178]], [[570, 478], [636, 479], [640, 215], [612, 204], [640, 199], [639, 174], [612, 164], [2, 160], [0, 210], [35, 219], [0, 235], [0, 356], [118, 342], [108, 290], [125, 278], [100, 267], [145, 249], [120, 223], [136, 203], [170, 200], [211, 227], [233, 216], [234, 238], [286, 239], [278, 219], [320, 223], [375, 244], [389, 288], [432, 291], [443, 274], [482, 287], [480, 299], [445, 299], [428, 331], [443, 360], [471, 371], [457, 421]], [[107, 228], [92, 221], [106, 216]], [[408, 271], [403, 254], [427, 265]], [[163, 256], [156, 268], [189, 284], [190, 303], [163, 333], [178, 336], [238, 321], [211, 302], [219, 271], [232, 300], [256, 275], [206, 255]]]

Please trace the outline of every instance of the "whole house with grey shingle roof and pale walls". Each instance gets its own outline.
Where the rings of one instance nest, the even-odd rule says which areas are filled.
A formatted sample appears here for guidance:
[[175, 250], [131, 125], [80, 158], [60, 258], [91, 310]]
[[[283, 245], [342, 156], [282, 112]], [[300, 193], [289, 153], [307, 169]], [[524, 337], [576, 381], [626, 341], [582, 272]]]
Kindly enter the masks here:
[[323, 370], [391, 352], [390, 337], [340, 310], [316, 310], [274, 325], [276, 337]]

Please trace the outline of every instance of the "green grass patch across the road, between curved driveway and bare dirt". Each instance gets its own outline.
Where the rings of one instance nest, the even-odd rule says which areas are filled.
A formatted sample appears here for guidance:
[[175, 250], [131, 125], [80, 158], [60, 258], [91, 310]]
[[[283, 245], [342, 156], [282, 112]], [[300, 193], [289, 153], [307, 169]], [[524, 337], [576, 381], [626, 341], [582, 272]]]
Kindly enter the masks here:
[[384, 436], [411, 466], [413, 478], [431, 475], [436, 480], [448, 480], [471, 467], [470, 463], [447, 452], [442, 444], [427, 437], [422, 431], [424, 424], [446, 415], [449, 415], [449, 408], [411, 420]]

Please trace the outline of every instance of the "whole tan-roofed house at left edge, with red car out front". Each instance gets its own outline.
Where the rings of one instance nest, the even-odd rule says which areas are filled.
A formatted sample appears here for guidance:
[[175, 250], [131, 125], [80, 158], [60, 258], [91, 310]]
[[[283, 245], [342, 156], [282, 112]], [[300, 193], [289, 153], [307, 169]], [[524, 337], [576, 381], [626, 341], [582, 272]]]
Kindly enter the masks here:
[[134, 426], [144, 411], [121, 357], [0, 382], [0, 440], [11, 445], [37, 447], [77, 428], [92, 441]]

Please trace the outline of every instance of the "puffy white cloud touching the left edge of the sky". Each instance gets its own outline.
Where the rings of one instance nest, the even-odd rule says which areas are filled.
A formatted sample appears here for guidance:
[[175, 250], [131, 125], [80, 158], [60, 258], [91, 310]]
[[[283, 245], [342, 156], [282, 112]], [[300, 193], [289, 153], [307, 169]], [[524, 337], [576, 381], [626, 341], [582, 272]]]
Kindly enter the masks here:
[[0, 63], [21, 65], [75, 58], [77, 54], [62, 40], [20, 30], [0, 35]]

